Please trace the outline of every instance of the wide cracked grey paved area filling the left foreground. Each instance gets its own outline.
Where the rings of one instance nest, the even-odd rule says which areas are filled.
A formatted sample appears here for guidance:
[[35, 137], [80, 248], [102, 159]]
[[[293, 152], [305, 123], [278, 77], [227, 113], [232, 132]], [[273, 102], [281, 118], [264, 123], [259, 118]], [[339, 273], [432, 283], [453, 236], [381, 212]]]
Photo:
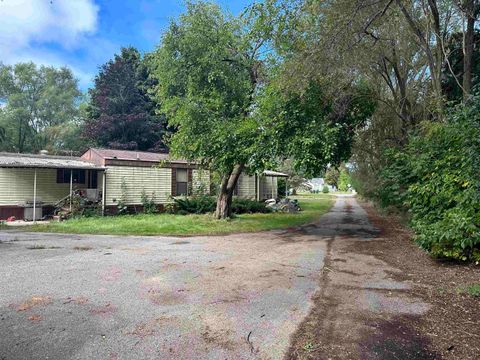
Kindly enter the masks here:
[[0, 359], [282, 358], [331, 231], [0, 233]]

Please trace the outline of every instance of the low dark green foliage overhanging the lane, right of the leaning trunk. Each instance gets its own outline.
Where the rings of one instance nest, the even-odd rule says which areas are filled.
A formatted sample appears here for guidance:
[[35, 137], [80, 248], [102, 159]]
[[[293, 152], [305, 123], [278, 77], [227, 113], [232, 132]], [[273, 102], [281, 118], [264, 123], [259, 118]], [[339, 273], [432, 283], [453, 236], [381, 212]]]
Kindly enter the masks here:
[[[351, 86], [332, 97], [325, 86], [312, 82], [300, 92], [273, 82], [260, 107], [269, 146], [293, 161], [306, 177], [325, 172], [351, 156], [355, 129], [375, 110], [364, 84]], [[266, 141], [266, 140], [265, 140]]]

